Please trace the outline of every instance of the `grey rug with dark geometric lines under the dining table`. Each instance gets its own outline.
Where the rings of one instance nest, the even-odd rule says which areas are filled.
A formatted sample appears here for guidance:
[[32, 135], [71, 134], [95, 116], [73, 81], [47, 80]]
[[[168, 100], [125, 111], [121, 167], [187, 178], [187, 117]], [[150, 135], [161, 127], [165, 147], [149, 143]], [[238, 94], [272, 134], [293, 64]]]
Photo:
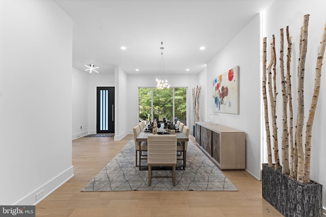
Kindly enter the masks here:
[[[146, 160], [142, 165], [147, 165]], [[182, 165], [178, 160], [177, 166]], [[171, 175], [171, 170], [154, 170], [153, 175]], [[82, 192], [106, 191], [238, 191], [216, 165], [192, 141], [187, 147], [187, 167], [176, 171], [172, 178], [152, 178], [148, 186], [148, 171], [135, 167], [135, 146], [130, 140], [97, 174]]]

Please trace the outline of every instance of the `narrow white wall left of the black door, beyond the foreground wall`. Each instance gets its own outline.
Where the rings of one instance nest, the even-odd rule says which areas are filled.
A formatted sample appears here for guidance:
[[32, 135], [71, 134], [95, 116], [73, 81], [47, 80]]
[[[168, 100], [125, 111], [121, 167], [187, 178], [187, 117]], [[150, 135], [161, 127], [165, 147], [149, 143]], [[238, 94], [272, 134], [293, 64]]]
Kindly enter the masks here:
[[88, 73], [72, 68], [72, 139], [88, 134], [88, 78]]

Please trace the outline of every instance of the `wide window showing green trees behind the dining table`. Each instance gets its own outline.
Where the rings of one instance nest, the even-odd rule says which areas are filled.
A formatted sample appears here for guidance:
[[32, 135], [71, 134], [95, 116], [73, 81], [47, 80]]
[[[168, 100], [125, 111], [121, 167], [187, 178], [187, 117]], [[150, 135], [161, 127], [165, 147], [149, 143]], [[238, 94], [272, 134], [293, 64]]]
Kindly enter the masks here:
[[180, 120], [187, 119], [187, 88], [172, 87], [157, 89], [139, 87], [139, 118], [152, 121], [155, 118]]

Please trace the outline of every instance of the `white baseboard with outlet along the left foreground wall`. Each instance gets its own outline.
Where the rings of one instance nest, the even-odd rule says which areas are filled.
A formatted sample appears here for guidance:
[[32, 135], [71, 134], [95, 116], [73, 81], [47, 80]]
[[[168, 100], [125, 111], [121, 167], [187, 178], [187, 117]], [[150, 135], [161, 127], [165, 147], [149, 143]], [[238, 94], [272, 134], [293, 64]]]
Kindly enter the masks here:
[[[43, 184], [40, 188], [33, 191], [31, 194], [26, 195], [24, 198], [16, 202], [14, 205], [36, 205], [52, 192], [56, 191], [62, 184], [67, 182], [70, 178], [73, 177], [73, 166], [69, 167], [61, 174], [52, 178], [50, 181]], [[41, 193], [42, 192], [42, 193]], [[40, 194], [39, 198], [36, 197], [37, 194]]]

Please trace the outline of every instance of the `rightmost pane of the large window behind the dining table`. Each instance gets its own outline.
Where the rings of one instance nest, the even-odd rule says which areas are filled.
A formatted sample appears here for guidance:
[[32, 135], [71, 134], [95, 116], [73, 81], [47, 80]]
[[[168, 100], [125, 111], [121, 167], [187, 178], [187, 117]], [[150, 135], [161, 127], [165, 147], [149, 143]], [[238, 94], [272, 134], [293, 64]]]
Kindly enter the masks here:
[[174, 117], [186, 124], [187, 120], [187, 88], [174, 88]]

